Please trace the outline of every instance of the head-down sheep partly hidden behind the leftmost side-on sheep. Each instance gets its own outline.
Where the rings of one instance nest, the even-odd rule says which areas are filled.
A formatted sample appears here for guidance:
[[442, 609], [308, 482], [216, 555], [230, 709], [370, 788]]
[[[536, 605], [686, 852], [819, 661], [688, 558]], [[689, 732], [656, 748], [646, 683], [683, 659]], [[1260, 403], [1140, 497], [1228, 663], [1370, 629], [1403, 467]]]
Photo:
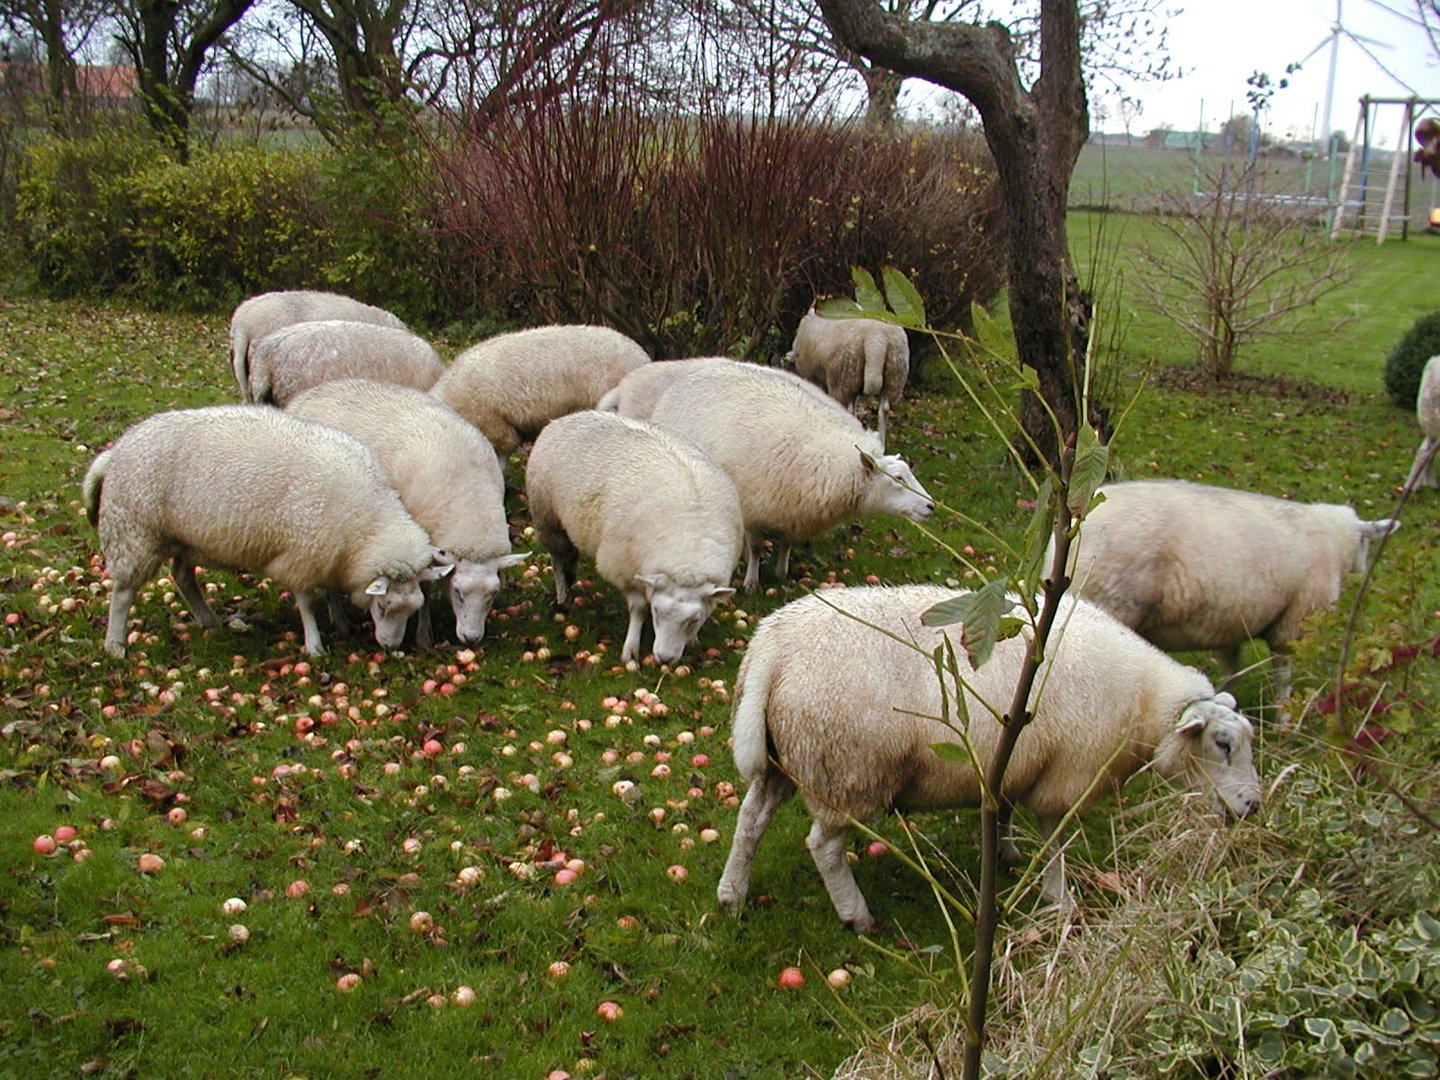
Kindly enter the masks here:
[[374, 452], [410, 517], [456, 560], [444, 579], [455, 635], [484, 638], [500, 572], [530, 554], [510, 553], [505, 481], [485, 436], [423, 390], [369, 379], [312, 386], [285, 410], [347, 432]]

